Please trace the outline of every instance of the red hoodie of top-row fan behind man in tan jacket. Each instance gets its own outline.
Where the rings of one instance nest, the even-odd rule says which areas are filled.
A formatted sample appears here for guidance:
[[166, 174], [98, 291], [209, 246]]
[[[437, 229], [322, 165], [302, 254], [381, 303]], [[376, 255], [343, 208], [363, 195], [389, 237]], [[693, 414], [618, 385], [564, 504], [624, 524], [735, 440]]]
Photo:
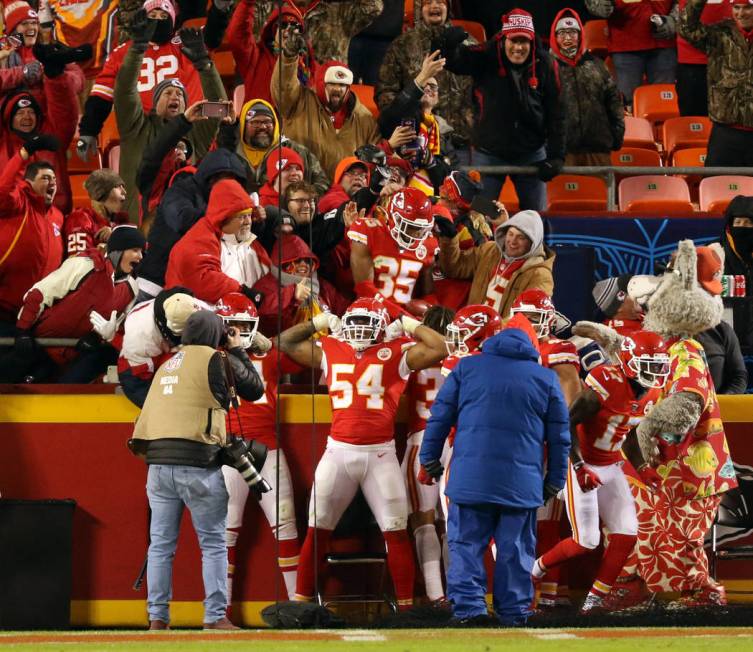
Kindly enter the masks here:
[[[295, 20], [303, 25], [303, 16], [294, 6], [284, 4], [282, 10], [272, 11], [262, 27], [259, 40], [254, 40], [254, 13], [256, 0], [241, 0], [233, 12], [233, 17], [227, 28], [227, 39], [230, 51], [235, 58], [235, 67], [243, 78], [245, 86], [244, 102], [249, 98], [263, 99], [272, 102], [269, 83], [272, 80], [272, 70], [277, 61], [277, 55], [270, 49], [277, 32], [277, 21], [282, 13], [283, 21]], [[307, 52], [298, 58], [298, 79], [304, 86], [316, 70], [316, 60], [311, 42], [306, 40]]]

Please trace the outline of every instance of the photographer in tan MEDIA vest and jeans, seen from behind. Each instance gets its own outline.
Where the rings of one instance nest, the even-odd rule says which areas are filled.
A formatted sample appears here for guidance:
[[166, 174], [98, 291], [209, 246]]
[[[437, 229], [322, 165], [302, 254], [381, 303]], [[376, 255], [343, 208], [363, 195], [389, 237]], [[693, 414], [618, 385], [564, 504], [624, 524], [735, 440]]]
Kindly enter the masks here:
[[[221, 451], [228, 450], [225, 417], [236, 391], [255, 401], [264, 387], [241, 348], [239, 331], [228, 328], [225, 350], [218, 351], [223, 336], [222, 318], [214, 313], [199, 310], [188, 318], [183, 346], [155, 374], [129, 443], [149, 465], [147, 604], [153, 630], [169, 628], [172, 560], [184, 505], [202, 551], [204, 629], [237, 629], [225, 615], [228, 494]], [[231, 443], [230, 450], [236, 449]]]

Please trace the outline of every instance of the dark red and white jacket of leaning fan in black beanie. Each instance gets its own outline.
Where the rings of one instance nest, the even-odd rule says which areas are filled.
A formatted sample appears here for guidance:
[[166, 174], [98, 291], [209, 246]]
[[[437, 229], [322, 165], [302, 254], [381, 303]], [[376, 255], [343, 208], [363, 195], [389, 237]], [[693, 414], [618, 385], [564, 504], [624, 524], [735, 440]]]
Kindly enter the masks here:
[[37, 337], [83, 337], [92, 331], [89, 314], [122, 314], [134, 299], [134, 283], [115, 282], [113, 266], [99, 249], [68, 258], [26, 293], [16, 326]]

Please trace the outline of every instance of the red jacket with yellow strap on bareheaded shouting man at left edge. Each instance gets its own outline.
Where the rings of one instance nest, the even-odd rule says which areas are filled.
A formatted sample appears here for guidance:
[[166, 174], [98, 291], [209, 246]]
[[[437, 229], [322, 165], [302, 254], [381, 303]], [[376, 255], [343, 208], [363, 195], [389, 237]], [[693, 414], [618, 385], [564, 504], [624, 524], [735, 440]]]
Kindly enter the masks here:
[[63, 214], [24, 180], [19, 154], [0, 168], [0, 318], [15, 321], [26, 290], [63, 260]]

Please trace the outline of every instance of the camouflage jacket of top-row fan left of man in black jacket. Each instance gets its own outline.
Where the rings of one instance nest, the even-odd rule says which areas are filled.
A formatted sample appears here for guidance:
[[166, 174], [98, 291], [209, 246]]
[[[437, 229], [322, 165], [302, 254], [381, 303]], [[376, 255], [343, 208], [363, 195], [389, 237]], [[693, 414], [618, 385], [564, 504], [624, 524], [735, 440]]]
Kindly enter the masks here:
[[[416, 27], [392, 41], [379, 69], [375, 97], [380, 110], [391, 104], [402, 88], [413, 83], [424, 56], [431, 51], [432, 38], [450, 24], [448, 18], [441, 27], [429, 27], [421, 21], [421, 2], [416, 2], [415, 7]], [[473, 38], [466, 40], [466, 43], [475, 42]], [[437, 83], [439, 104], [434, 113], [453, 128], [455, 146], [466, 147], [473, 127], [473, 79], [443, 70], [437, 75]]]

